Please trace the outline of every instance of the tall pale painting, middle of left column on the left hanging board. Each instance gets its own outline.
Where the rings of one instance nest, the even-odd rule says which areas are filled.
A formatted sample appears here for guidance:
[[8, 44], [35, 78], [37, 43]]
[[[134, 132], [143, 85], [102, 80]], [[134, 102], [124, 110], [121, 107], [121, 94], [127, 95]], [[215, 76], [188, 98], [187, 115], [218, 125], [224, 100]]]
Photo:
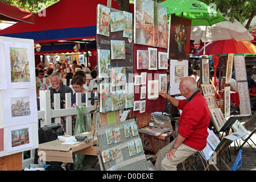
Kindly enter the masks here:
[[110, 77], [110, 50], [98, 49], [98, 78]]

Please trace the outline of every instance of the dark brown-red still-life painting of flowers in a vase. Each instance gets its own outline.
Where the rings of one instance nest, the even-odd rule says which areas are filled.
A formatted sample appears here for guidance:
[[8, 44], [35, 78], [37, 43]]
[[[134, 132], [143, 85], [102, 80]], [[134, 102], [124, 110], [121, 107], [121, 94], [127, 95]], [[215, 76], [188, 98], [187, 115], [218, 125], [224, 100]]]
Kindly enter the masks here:
[[191, 19], [186, 19], [171, 14], [169, 22], [169, 58], [189, 59]]

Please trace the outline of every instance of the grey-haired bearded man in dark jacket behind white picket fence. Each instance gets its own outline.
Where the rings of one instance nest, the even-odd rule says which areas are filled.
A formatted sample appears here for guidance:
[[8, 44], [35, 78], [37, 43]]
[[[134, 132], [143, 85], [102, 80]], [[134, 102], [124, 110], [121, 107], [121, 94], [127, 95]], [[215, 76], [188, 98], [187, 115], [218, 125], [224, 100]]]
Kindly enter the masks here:
[[65, 93], [71, 93], [71, 100], [73, 98], [72, 89], [67, 86], [61, 84], [61, 75], [59, 72], [53, 72], [50, 76], [52, 86], [48, 88], [51, 91], [51, 100], [54, 101], [54, 94], [60, 93], [60, 99], [65, 100]]

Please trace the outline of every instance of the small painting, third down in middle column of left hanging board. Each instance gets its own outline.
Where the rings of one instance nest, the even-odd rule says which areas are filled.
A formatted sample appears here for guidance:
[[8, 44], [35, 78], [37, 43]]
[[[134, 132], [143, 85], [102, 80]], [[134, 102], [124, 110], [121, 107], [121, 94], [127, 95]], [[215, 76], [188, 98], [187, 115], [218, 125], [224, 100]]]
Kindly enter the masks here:
[[124, 67], [111, 68], [112, 86], [121, 86], [126, 84], [126, 69]]

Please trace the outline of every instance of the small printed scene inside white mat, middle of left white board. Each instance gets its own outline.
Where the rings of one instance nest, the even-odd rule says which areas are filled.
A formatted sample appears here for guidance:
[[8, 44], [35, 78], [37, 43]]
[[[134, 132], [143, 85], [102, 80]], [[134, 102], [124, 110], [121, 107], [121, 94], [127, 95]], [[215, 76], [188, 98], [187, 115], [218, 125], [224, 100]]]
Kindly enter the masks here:
[[13, 97], [11, 100], [11, 117], [30, 115], [30, 97]]

